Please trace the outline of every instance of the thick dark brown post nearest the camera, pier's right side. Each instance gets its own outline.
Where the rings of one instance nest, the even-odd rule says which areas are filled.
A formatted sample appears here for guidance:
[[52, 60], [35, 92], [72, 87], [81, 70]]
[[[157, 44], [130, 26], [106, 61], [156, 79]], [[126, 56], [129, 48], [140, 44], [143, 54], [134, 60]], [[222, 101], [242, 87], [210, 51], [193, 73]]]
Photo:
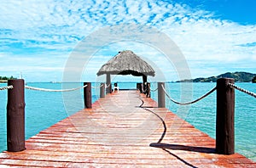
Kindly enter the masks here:
[[229, 83], [234, 79], [217, 80], [216, 153], [235, 153], [234, 112], [235, 91]]

